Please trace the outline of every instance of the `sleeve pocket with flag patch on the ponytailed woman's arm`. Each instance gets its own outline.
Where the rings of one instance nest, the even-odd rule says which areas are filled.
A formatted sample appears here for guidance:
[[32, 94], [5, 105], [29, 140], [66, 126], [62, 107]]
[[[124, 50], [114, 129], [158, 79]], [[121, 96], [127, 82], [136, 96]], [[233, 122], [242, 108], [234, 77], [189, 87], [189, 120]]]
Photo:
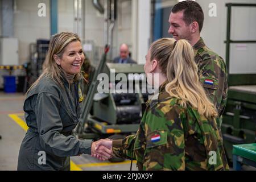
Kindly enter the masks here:
[[167, 144], [168, 133], [164, 130], [154, 131], [147, 135], [146, 148], [153, 148]]

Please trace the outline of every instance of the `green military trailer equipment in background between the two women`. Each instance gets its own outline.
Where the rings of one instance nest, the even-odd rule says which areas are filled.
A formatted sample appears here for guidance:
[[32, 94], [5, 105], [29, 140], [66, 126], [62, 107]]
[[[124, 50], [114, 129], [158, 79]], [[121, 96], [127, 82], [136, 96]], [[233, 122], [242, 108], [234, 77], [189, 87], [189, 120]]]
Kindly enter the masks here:
[[[123, 139], [139, 129], [142, 106], [150, 96], [143, 65], [106, 63], [107, 52], [108, 48], [82, 106], [80, 126], [75, 131], [78, 138]], [[101, 86], [104, 83], [105, 88]], [[101, 89], [104, 92], [98, 92]], [[110, 159], [111, 162], [122, 160]]]

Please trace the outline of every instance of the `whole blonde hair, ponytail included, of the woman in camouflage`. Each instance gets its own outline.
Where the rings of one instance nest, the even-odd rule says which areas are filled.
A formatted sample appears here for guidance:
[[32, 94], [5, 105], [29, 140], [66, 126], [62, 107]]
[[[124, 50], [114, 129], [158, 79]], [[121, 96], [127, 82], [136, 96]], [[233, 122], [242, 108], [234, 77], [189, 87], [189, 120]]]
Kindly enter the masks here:
[[169, 83], [166, 92], [181, 100], [184, 108], [191, 105], [200, 115], [207, 118], [217, 117], [216, 107], [210, 102], [200, 83], [194, 51], [187, 40], [163, 38], [151, 46], [151, 60], [159, 61]]

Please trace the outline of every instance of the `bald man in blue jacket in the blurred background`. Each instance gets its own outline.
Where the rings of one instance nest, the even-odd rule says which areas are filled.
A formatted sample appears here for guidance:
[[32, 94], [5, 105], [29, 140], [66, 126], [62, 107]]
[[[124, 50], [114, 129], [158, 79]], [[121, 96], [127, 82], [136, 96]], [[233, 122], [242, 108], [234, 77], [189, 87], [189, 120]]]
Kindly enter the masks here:
[[119, 63], [119, 64], [137, 64], [134, 60], [132, 60], [129, 56], [129, 47], [127, 44], [122, 44], [120, 46], [120, 54], [118, 57], [115, 57], [113, 60], [113, 63]]

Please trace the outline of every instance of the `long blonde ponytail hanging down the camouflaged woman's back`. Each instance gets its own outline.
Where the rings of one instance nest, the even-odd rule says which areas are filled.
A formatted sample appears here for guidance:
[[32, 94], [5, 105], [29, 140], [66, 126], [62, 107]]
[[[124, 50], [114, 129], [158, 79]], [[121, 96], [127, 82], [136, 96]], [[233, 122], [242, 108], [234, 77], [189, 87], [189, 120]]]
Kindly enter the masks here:
[[197, 75], [194, 52], [187, 40], [178, 40], [167, 65], [166, 92], [172, 97], [181, 99], [181, 105], [187, 108], [190, 104], [205, 117], [217, 117], [215, 106], [210, 102]]

